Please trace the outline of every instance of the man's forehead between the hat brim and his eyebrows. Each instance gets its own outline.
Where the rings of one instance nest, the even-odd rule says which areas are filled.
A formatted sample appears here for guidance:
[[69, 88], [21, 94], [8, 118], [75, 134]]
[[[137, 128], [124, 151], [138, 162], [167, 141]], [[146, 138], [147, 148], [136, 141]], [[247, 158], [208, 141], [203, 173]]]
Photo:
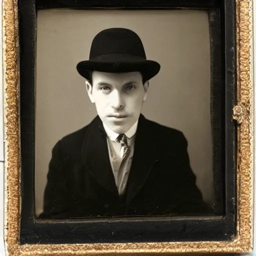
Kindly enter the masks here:
[[142, 75], [140, 72], [126, 72], [126, 73], [107, 73], [107, 72], [92, 72], [93, 83], [106, 82], [110, 84], [124, 84], [126, 82], [142, 82]]

